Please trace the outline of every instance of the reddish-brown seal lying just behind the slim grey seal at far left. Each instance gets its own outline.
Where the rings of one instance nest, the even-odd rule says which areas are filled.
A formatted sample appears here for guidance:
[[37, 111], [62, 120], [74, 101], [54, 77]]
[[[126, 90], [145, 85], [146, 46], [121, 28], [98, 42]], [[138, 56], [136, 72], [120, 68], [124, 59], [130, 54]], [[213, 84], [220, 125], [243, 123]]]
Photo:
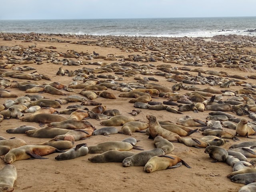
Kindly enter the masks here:
[[37, 114], [30, 117], [24, 117], [20, 119], [22, 122], [36, 122], [40, 127], [44, 127], [44, 124], [51, 122], [61, 122], [67, 120], [67, 118], [60, 115], [53, 114]]

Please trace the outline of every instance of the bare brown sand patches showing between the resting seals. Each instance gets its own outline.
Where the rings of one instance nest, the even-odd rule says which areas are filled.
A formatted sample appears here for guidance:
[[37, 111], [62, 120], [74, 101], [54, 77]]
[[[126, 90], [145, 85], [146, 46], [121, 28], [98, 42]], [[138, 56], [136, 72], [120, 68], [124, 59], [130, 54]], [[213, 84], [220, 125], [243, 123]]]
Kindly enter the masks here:
[[[57, 37], [60, 38], [60, 37]], [[70, 39], [66, 39], [70, 40]], [[78, 41], [72, 39], [72, 41]], [[14, 45], [23, 45], [28, 48], [29, 45], [33, 45], [35, 42], [22, 42], [22, 40], [12, 40], [12, 41], [3, 41], [0, 39], [0, 46], [14, 46]], [[69, 43], [56, 43], [56, 42], [37, 42], [36, 48], [45, 48], [46, 46], [55, 46], [57, 49], [54, 51], [57, 52], [66, 52], [67, 50], [76, 50], [78, 52], [90, 52], [93, 51], [100, 53], [100, 55], [107, 56], [108, 54], [124, 55], [128, 57], [130, 54], [142, 54], [141, 52], [122, 52], [119, 48], [112, 47], [102, 47], [102, 46], [88, 46], [88, 45], [79, 45], [79, 44], [69, 44]], [[250, 50], [250, 48], [248, 48]], [[60, 57], [61, 58], [61, 57]], [[71, 58], [75, 61], [78, 59]], [[94, 59], [93, 62], [104, 61], [102, 59]], [[2, 61], [3, 62], [3, 61]], [[7, 62], [7, 60], [4, 60]], [[104, 61], [106, 63], [113, 63], [116, 61]], [[144, 64], [142, 62], [136, 62], [138, 64]], [[148, 64], [148, 63], [145, 63]], [[154, 65], [164, 64], [162, 61], [154, 62]], [[175, 64], [171, 64], [176, 66]], [[18, 65], [16, 65], [18, 66]], [[50, 76], [52, 81], [60, 82], [68, 85], [72, 82], [72, 77], [68, 76], [56, 76], [56, 72], [61, 65], [56, 65], [52, 63], [43, 62], [42, 65], [28, 64], [36, 68], [40, 74], [47, 74]], [[76, 70], [81, 69], [84, 66], [63, 66], [63, 69]], [[96, 65], [88, 65], [88, 68], [96, 68]], [[190, 66], [189, 66], [190, 67]], [[190, 67], [196, 68], [196, 67]], [[208, 66], [200, 67], [204, 70], [209, 70]], [[225, 70], [229, 74], [240, 74], [242, 76], [252, 75], [254, 72], [242, 72], [237, 69], [230, 68], [210, 68], [210, 70]], [[12, 69], [8, 69], [12, 71]], [[152, 70], [154, 72], [158, 70]], [[28, 71], [26, 73], [30, 73]], [[193, 75], [196, 75], [196, 72], [191, 72]], [[113, 74], [113, 73], [108, 73]], [[143, 75], [140, 75], [144, 77]], [[162, 76], [156, 76], [159, 82], [163, 86], [171, 87], [173, 83], [167, 82], [166, 78]], [[13, 78], [10, 78], [13, 79]], [[124, 77], [124, 82], [134, 81], [133, 78]], [[23, 82], [25, 80], [13, 79], [18, 82]], [[246, 82], [255, 83], [255, 80], [248, 79]], [[47, 80], [40, 80], [39, 83], [49, 82]], [[13, 83], [14, 84], [14, 83]], [[198, 85], [199, 87], [206, 88], [209, 85]], [[221, 90], [220, 86], [214, 86], [215, 89]], [[231, 90], [236, 90], [242, 87], [232, 86]], [[18, 94], [18, 96], [24, 96], [23, 91], [18, 90], [17, 88], [6, 88], [11, 90], [13, 94]], [[81, 91], [75, 90], [74, 94], [77, 94]], [[130, 98], [120, 98], [118, 95], [121, 93], [116, 90], [108, 89], [108, 91], [116, 95], [116, 100], [96, 98], [96, 101], [102, 102], [107, 109], [118, 109], [121, 114], [131, 116], [128, 112], [131, 112], [134, 109], [133, 104], [128, 103]], [[62, 90], [64, 93], [70, 93]], [[179, 91], [182, 94], [185, 94], [186, 90]], [[72, 94], [72, 93], [71, 93]], [[48, 93], [42, 94], [44, 97], [50, 99], [64, 98], [64, 96], [51, 95]], [[14, 98], [10, 98], [14, 100]], [[0, 98], [0, 104], [3, 104], [6, 98]], [[158, 98], [153, 99], [153, 101], [163, 102], [166, 99]], [[71, 103], [80, 104], [80, 103]], [[62, 105], [62, 108], [58, 110], [66, 109], [68, 105]], [[93, 106], [88, 106], [91, 109]], [[177, 107], [175, 107], [178, 109]], [[154, 111], [142, 109], [142, 112], [136, 116], [136, 119], [148, 122], [146, 115], [155, 115], [158, 120], [170, 120], [172, 122], [177, 122], [178, 118], [190, 115], [192, 118], [202, 118], [206, 119], [210, 111], [204, 111], [199, 113], [194, 112], [184, 112], [182, 114], [173, 114], [163, 111]], [[232, 114], [231, 112], [229, 112]], [[30, 114], [25, 114], [29, 116]], [[64, 115], [68, 117], [68, 115]], [[248, 117], [246, 117], [249, 119]], [[100, 122], [97, 120], [89, 119], [96, 128], [102, 128]], [[30, 138], [25, 134], [8, 134], [6, 133], [7, 129], [16, 128], [22, 125], [35, 126], [40, 128], [37, 123], [26, 123], [21, 122], [17, 119], [3, 120], [0, 126], [0, 136], [5, 138], [16, 137], [23, 139], [27, 144], [36, 144], [41, 143], [50, 139], [40, 139], [40, 138]], [[121, 126], [117, 127], [119, 130]], [[194, 127], [192, 127], [194, 129]], [[235, 130], [229, 130], [224, 128], [228, 132], [235, 134]], [[124, 138], [127, 138], [127, 135], [123, 134], [114, 134], [107, 136], [92, 136], [90, 139], [82, 140], [75, 142], [76, 144], [87, 143], [88, 146], [95, 145], [100, 142], [105, 141], [121, 141]], [[148, 136], [143, 133], [133, 133], [132, 137], [140, 140], [138, 143], [139, 146], [143, 146], [144, 150], [150, 150], [154, 148], [153, 140], [148, 139]], [[192, 134], [190, 137], [193, 138], [202, 138], [201, 133]], [[240, 138], [240, 142], [248, 141], [250, 139]], [[252, 139], [251, 139], [252, 140]], [[251, 141], [250, 140], [250, 141]], [[255, 140], [255, 139], [253, 139]], [[238, 142], [236, 142], [238, 143]], [[130, 191], [162, 191], [162, 192], [194, 192], [194, 191], [203, 191], [203, 192], [236, 192], [238, 191], [243, 184], [237, 184], [231, 182], [226, 176], [232, 172], [232, 167], [228, 166], [226, 163], [217, 162], [211, 163], [208, 154], [204, 153], [204, 149], [197, 149], [187, 147], [184, 144], [173, 143], [175, 146], [174, 151], [171, 154], [180, 156], [188, 165], [192, 168], [189, 169], [186, 166], [181, 166], [176, 169], [156, 171], [153, 173], [144, 172], [144, 167], [122, 167], [122, 163], [92, 163], [88, 161], [88, 158], [93, 154], [88, 154], [86, 156], [76, 158], [73, 160], [66, 161], [57, 161], [55, 156], [58, 154], [51, 154], [46, 157], [46, 160], [21, 160], [16, 161], [13, 165], [16, 167], [18, 172], [18, 178], [14, 184], [14, 189], [17, 192], [78, 192], [78, 191], [94, 191], [94, 192], [103, 192], [103, 191], [119, 191], [119, 192], [130, 192]], [[222, 146], [225, 149], [228, 149], [230, 145], [235, 144], [232, 140]], [[75, 146], [74, 145], [74, 146]], [[139, 152], [138, 150], [131, 150], [132, 152]], [[250, 159], [250, 158], [249, 158]], [[1, 159], [0, 167], [4, 166], [5, 163]]]

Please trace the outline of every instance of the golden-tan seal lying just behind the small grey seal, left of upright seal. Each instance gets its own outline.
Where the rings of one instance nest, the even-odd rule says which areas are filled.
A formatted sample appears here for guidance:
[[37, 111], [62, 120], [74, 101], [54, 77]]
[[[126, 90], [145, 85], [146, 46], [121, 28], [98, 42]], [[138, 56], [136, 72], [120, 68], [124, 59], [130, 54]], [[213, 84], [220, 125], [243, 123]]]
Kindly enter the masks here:
[[136, 121], [136, 120], [132, 117], [127, 117], [124, 115], [116, 115], [110, 118], [109, 120], [100, 122], [100, 124], [103, 126], [122, 126], [125, 123], [131, 122], [131, 121]]

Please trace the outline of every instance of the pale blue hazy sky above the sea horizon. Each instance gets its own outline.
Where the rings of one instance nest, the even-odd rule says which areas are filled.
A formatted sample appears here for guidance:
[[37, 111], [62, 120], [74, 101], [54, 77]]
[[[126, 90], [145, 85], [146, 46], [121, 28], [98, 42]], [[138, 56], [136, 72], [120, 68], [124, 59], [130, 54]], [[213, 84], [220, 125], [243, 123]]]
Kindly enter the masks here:
[[256, 16], [256, 0], [0, 0], [0, 20]]

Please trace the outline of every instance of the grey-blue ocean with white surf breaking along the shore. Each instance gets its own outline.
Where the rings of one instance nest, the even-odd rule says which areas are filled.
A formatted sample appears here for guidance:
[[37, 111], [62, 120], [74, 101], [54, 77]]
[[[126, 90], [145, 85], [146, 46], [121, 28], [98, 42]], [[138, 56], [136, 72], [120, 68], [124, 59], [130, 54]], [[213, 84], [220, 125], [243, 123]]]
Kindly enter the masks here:
[[0, 20], [0, 32], [114, 36], [212, 37], [250, 35], [256, 17]]

